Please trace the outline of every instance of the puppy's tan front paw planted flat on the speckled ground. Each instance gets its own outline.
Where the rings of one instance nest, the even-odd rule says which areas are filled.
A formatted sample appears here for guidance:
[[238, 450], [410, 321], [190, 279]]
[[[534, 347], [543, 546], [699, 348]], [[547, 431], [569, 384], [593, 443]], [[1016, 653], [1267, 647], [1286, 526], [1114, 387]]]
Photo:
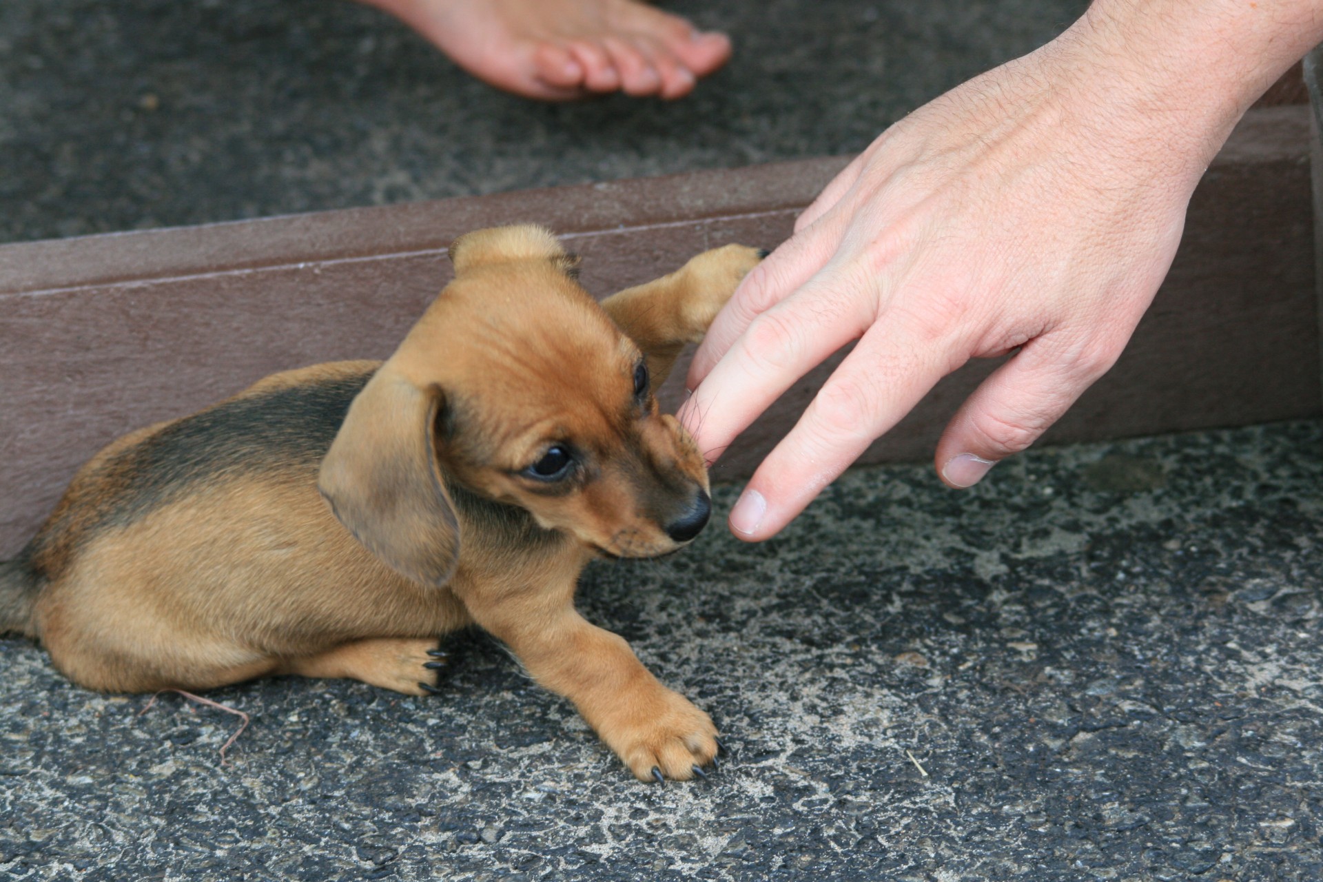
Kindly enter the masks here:
[[640, 782], [688, 780], [717, 755], [717, 727], [684, 696], [659, 688], [630, 705], [598, 734]]

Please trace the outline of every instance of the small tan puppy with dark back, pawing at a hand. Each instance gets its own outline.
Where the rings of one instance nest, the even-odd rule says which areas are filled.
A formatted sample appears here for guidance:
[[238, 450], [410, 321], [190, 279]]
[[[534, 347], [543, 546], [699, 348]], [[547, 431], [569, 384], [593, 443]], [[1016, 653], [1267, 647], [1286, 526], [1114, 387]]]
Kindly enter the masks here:
[[0, 565], [0, 631], [93, 689], [284, 673], [423, 694], [438, 635], [476, 623], [639, 779], [710, 762], [708, 715], [573, 599], [589, 559], [706, 522], [703, 458], [651, 389], [759, 253], [602, 304], [540, 227], [471, 233], [451, 259], [389, 361], [275, 374], [98, 454]]

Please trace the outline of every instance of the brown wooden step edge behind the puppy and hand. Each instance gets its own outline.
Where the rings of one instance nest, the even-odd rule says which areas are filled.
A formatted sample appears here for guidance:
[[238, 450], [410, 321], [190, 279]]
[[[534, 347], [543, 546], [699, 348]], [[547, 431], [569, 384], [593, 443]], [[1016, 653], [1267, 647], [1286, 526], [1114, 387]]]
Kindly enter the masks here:
[[[1196, 190], [1131, 345], [1048, 440], [1320, 413], [1308, 155], [1304, 106], [1246, 115]], [[708, 247], [775, 246], [844, 161], [0, 246], [0, 559], [112, 438], [275, 370], [388, 356], [450, 278], [446, 247], [467, 230], [545, 223], [583, 257], [589, 291], [606, 296]], [[832, 364], [787, 391], [714, 477], [747, 476]], [[994, 366], [945, 380], [861, 461], [930, 456]]]

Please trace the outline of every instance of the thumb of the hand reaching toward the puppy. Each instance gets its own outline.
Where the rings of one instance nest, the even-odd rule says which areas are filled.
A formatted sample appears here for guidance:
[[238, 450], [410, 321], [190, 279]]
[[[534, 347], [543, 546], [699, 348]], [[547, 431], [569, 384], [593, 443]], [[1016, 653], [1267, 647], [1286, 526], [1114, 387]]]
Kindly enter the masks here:
[[949, 487], [972, 487], [999, 461], [1039, 440], [1085, 389], [1107, 373], [1122, 346], [1061, 352], [1044, 336], [1024, 346], [974, 390], [937, 444], [937, 472]]

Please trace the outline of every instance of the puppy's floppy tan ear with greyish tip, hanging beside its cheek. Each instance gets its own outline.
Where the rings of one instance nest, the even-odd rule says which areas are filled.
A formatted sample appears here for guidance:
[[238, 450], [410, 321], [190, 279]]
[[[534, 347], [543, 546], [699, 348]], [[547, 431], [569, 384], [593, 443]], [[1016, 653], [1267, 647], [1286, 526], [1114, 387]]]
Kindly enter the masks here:
[[349, 532], [423, 584], [445, 584], [459, 559], [459, 521], [437, 465], [442, 398], [385, 365], [349, 405], [318, 477]]

